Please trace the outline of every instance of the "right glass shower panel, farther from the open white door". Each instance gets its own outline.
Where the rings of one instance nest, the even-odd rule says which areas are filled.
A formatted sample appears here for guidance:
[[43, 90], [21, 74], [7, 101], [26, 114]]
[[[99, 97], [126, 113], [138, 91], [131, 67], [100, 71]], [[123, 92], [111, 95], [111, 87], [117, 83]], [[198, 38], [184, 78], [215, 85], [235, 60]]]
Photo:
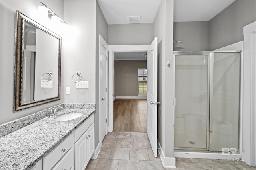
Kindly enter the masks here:
[[239, 151], [240, 52], [214, 52], [210, 117], [212, 151]]

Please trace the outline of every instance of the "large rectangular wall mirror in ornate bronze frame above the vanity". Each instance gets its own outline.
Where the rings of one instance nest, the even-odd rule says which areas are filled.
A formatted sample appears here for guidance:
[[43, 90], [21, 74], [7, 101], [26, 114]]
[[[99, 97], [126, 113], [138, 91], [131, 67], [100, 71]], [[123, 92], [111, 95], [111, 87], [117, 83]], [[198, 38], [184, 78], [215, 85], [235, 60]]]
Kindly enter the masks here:
[[61, 37], [16, 12], [14, 111], [60, 100]]

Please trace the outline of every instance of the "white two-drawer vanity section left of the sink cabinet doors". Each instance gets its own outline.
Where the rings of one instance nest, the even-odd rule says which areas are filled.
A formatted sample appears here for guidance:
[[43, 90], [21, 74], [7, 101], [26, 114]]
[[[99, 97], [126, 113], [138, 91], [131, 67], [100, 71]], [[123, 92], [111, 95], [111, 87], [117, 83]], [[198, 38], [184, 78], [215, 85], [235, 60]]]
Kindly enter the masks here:
[[74, 169], [74, 132], [43, 158], [43, 170]]

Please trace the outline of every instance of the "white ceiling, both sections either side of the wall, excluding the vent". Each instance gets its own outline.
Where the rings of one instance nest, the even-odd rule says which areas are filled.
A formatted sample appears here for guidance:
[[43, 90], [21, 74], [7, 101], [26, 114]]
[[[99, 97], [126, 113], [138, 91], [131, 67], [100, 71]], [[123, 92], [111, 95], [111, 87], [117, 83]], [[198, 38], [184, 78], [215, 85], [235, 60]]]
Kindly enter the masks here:
[[[209, 21], [235, 0], [174, 0], [174, 22]], [[153, 23], [161, 0], [98, 0], [108, 25]], [[127, 21], [127, 16], [141, 16]]]

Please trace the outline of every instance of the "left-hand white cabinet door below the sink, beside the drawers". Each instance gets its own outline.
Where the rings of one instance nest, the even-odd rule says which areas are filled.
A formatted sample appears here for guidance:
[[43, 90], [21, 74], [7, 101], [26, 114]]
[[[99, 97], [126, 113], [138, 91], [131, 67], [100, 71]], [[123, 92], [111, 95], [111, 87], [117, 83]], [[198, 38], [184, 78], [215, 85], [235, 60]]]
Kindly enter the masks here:
[[86, 142], [87, 142], [87, 133], [85, 132], [79, 139], [76, 141], [75, 147], [75, 169], [76, 170], [84, 170], [86, 168], [86, 164], [88, 163], [86, 160]]

